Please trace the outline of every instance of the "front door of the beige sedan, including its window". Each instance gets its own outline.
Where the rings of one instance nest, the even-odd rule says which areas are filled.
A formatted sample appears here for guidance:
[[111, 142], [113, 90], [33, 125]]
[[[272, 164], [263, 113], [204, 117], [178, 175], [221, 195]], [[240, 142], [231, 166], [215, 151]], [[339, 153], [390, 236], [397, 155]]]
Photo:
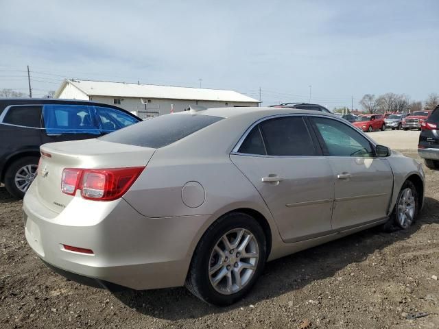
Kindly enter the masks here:
[[384, 219], [393, 186], [388, 160], [376, 158], [370, 141], [350, 125], [323, 117], [310, 121], [335, 178], [333, 229]]

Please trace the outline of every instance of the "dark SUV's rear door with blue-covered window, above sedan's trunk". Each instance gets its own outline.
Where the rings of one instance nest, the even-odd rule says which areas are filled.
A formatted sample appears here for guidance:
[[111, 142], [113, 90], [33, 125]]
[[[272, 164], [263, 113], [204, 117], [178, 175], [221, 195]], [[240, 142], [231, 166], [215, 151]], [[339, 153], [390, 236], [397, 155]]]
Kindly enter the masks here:
[[47, 104], [43, 106], [44, 143], [76, 141], [101, 136], [93, 106]]

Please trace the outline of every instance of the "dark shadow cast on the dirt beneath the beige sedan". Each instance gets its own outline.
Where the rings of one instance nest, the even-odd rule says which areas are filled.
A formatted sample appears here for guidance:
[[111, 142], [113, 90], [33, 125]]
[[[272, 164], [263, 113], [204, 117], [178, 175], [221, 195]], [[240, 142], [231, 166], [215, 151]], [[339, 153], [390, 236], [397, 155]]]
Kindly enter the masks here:
[[263, 276], [246, 299], [226, 308], [206, 305], [185, 288], [123, 291], [115, 293], [115, 296], [127, 306], [136, 308], [137, 312], [161, 319], [198, 318], [211, 313], [228, 312], [300, 289], [314, 280], [334, 276], [347, 265], [364, 261], [376, 250], [408, 239], [423, 224], [439, 223], [439, 218], [434, 214], [439, 214], [439, 201], [427, 197], [423, 212], [409, 230], [383, 233], [379, 228], [372, 228], [274, 260], [266, 265]]

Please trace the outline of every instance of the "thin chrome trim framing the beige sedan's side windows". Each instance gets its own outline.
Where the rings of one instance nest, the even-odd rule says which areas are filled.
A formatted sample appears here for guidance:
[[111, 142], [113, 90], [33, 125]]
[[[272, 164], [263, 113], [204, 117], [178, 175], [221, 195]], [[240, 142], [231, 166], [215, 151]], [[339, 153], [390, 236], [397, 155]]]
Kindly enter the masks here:
[[[377, 147], [377, 144], [375, 144], [375, 142], [372, 141], [372, 139], [369, 138], [368, 135], [364, 134], [363, 131], [357, 130], [353, 125], [351, 125], [351, 123], [346, 123], [346, 120], [340, 119], [339, 117], [336, 117], [334, 114], [322, 115], [322, 114], [318, 114], [318, 113], [316, 113], [316, 114], [291, 113], [291, 114], [274, 114], [274, 115], [270, 115], [269, 117], [263, 117], [263, 118], [255, 121], [254, 123], [252, 123], [252, 125], [250, 125], [250, 127], [248, 127], [248, 129], [246, 130], [246, 132], [244, 132], [244, 134], [241, 136], [241, 138], [239, 138], [239, 141], [236, 143], [235, 147], [233, 147], [233, 149], [230, 152], [230, 154], [237, 155], [237, 156], [257, 156], [259, 158], [313, 158], [313, 159], [315, 159], [315, 158], [350, 158], [350, 159], [352, 159], [352, 158], [361, 158], [361, 159], [377, 159], [376, 156], [268, 156], [266, 154], [247, 154], [247, 153], [241, 153], [241, 152], [238, 151], [239, 147], [241, 147], [242, 143], [244, 143], [244, 140], [246, 139], [248, 134], [250, 134], [250, 132], [252, 131], [252, 129], [256, 125], [259, 125], [259, 123], [261, 123], [263, 121], [266, 121], [266, 120], [282, 118], [282, 117], [320, 117], [320, 118], [324, 118], [324, 119], [332, 119], [332, 120], [335, 120], [335, 121], [339, 121], [339, 122], [343, 123], [344, 125], [347, 125], [348, 127], [350, 127], [355, 132], [358, 132], [364, 138], [366, 138], [366, 140], [371, 145], [373, 145], [373, 147]], [[307, 123], [305, 123], [305, 125], [306, 125], [306, 127], [308, 129]]]

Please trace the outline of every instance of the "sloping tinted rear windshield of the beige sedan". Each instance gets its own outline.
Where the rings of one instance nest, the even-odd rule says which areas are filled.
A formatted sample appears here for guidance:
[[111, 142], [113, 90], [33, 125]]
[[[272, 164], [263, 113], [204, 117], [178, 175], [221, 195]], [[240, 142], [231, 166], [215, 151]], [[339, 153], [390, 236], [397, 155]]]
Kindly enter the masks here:
[[130, 125], [99, 139], [158, 149], [224, 118], [202, 114], [166, 114]]

